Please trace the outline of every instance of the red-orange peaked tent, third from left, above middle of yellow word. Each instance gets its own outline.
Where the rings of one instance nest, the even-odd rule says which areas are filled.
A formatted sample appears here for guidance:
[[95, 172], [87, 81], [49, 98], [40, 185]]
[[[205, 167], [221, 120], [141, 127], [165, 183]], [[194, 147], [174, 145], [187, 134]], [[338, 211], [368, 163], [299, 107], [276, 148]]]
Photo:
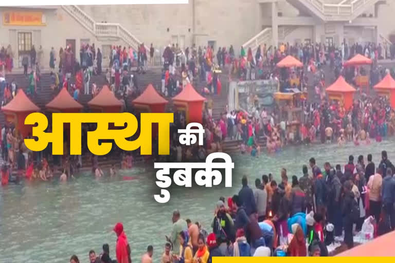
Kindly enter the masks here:
[[103, 86], [96, 97], [88, 101], [88, 105], [91, 109], [106, 113], [120, 112], [122, 108], [122, 102], [115, 97], [106, 85]]

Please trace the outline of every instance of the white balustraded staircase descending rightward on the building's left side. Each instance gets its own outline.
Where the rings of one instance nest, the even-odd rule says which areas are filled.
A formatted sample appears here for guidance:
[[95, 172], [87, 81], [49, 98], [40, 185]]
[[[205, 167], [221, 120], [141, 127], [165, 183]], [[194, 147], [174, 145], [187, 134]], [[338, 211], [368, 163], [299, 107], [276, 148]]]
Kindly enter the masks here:
[[125, 42], [127, 46], [131, 46], [134, 49], [138, 49], [138, 46], [141, 44], [132, 33], [118, 23], [96, 23], [92, 17], [75, 5], [62, 6], [62, 8], [98, 38], [117, 37]]

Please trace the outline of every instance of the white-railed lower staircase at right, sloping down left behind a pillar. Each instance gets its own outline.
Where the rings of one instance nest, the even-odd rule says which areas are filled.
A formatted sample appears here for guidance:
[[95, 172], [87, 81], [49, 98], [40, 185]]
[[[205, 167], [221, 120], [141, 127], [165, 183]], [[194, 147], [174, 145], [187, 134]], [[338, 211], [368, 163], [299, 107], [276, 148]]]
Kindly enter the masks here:
[[[298, 27], [297, 26], [278, 27], [278, 41], [284, 42], [285, 37], [288, 36], [290, 33], [292, 33], [296, 28]], [[243, 47], [245, 50], [251, 48], [253, 54], [255, 54], [255, 51], [257, 50], [258, 46], [263, 46], [264, 44], [266, 44], [266, 47], [270, 47], [274, 45], [271, 27], [266, 27], [261, 32], [253, 36], [250, 40], [248, 40], [246, 43], [243, 44]]]

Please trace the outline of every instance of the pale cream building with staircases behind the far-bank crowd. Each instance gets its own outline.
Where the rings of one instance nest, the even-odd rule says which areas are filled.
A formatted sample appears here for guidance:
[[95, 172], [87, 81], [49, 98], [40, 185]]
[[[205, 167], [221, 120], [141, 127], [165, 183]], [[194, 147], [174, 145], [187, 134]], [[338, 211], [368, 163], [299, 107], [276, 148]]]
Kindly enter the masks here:
[[[395, 0], [189, 0], [185, 5], [106, 5], [0, 7], [0, 46], [11, 44], [14, 65], [31, 46], [49, 53], [66, 44], [78, 54], [95, 43], [106, 60], [111, 45], [137, 47], [170, 43], [182, 48], [231, 44], [277, 46], [281, 42], [354, 42], [395, 40], [391, 15]], [[77, 55], [78, 59], [78, 55]], [[103, 65], [105, 62], [103, 62]]]

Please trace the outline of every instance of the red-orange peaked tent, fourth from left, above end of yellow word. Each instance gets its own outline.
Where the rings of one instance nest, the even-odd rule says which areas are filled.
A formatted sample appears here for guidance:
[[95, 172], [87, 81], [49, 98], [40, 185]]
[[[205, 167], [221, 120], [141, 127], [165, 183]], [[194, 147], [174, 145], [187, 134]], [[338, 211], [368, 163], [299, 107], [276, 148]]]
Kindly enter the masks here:
[[165, 112], [167, 103], [168, 101], [158, 94], [152, 84], [149, 84], [146, 90], [133, 100], [133, 104], [136, 108], [149, 112]]

